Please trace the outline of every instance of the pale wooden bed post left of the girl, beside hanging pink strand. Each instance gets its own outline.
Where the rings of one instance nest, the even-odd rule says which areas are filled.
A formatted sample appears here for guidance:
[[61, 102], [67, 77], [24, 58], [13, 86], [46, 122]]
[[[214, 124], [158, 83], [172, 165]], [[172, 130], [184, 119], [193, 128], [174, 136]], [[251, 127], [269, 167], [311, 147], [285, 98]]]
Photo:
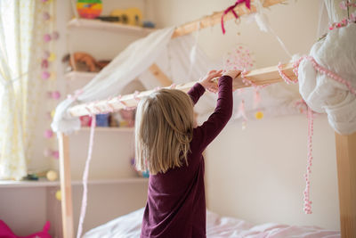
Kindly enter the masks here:
[[64, 238], [73, 238], [73, 206], [69, 161], [69, 136], [58, 133], [61, 171], [61, 217]]

